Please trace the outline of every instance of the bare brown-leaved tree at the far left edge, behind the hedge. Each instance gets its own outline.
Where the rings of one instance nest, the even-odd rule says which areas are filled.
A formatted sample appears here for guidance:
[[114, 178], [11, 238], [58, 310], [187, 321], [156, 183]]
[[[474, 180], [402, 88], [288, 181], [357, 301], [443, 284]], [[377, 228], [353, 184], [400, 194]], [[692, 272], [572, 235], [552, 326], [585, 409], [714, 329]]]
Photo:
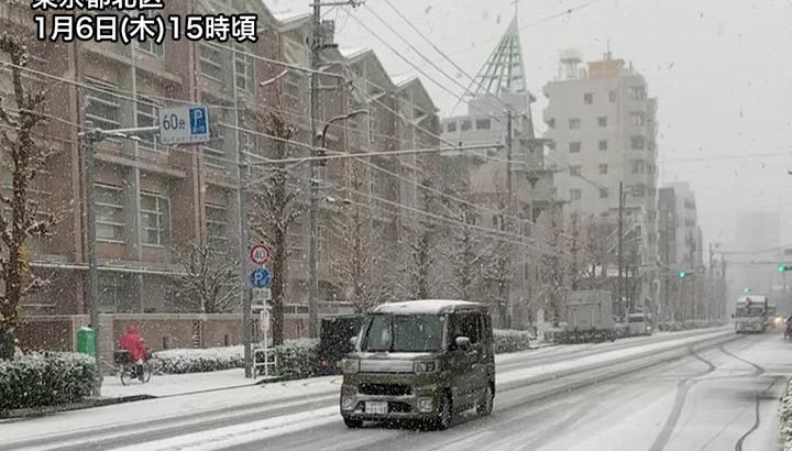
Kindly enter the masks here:
[[45, 284], [30, 270], [25, 246], [36, 237], [45, 237], [55, 216], [43, 211], [40, 200], [32, 198], [31, 186], [53, 154], [34, 141], [34, 131], [46, 123], [46, 91], [25, 86], [22, 72], [30, 55], [24, 38], [0, 35], [0, 52], [11, 61], [11, 81], [15, 111], [0, 107], [0, 146], [2, 160], [10, 169], [11, 194], [0, 194], [0, 359], [13, 358], [19, 308], [24, 299]]

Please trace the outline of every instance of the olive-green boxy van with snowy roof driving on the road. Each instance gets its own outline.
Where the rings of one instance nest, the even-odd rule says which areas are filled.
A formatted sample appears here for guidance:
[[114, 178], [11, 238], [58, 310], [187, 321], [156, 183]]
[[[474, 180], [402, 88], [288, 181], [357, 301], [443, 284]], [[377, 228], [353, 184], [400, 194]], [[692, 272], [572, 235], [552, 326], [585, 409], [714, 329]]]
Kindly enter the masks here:
[[385, 304], [366, 317], [359, 337], [343, 361], [341, 416], [348, 427], [419, 420], [446, 429], [466, 409], [492, 413], [495, 356], [486, 305]]

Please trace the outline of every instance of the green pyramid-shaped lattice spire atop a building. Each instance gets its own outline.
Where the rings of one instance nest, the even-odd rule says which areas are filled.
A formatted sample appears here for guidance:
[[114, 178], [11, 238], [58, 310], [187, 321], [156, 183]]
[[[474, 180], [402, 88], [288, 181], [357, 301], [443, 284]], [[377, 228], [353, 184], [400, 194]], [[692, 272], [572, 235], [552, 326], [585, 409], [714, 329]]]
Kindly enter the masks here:
[[516, 15], [506, 29], [506, 33], [501, 37], [498, 45], [479, 70], [479, 75], [475, 76], [473, 90], [480, 96], [527, 92]]

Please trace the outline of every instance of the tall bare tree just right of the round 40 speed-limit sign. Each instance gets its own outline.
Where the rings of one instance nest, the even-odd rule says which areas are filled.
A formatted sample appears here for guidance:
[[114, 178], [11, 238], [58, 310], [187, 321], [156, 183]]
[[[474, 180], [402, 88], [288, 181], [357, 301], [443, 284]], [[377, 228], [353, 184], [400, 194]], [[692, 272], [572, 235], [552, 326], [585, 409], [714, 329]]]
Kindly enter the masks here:
[[277, 112], [268, 112], [263, 118], [257, 118], [256, 123], [261, 124], [264, 133], [275, 136], [268, 140], [272, 164], [265, 166], [264, 174], [257, 180], [261, 188], [252, 194], [256, 208], [252, 213], [251, 229], [273, 248], [272, 334], [273, 344], [277, 345], [283, 343], [283, 305], [287, 258], [290, 255], [288, 231], [300, 213], [300, 190], [294, 165], [277, 161], [295, 153], [288, 141], [295, 136], [297, 130]]

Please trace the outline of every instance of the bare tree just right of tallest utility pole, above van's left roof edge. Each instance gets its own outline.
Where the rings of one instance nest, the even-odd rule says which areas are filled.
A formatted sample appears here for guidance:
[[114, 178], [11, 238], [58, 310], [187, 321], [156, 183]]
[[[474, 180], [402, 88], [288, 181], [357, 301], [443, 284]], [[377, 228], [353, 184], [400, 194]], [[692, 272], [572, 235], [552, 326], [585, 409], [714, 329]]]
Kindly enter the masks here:
[[332, 232], [340, 241], [331, 265], [356, 312], [382, 302], [388, 290], [382, 271], [383, 249], [373, 240], [371, 204], [361, 195], [367, 187], [366, 170], [355, 161], [348, 162], [349, 182], [343, 207], [331, 219]]

